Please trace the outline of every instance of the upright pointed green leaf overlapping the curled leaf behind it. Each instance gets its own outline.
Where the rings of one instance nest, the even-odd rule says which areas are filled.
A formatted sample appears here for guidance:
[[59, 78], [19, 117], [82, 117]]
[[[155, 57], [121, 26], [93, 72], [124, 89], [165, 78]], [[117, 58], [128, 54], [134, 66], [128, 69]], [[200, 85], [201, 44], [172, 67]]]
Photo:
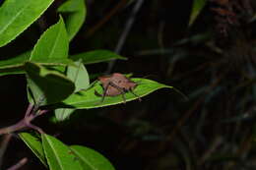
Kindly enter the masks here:
[[59, 22], [48, 28], [40, 36], [33, 47], [30, 60], [38, 63], [50, 63], [53, 60], [61, 61], [68, 58], [68, 34], [60, 18]]

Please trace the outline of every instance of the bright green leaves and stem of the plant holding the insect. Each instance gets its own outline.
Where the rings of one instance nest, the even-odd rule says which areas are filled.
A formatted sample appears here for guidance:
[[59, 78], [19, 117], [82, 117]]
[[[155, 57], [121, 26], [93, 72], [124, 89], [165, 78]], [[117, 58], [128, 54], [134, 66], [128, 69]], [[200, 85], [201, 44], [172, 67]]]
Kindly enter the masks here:
[[[15, 44], [15, 39], [42, 16], [52, 3], [53, 0], [6, 0], [0, 7], [0, 46], [3, 47], [12, 40]], [[63, 14], [64, 20], [60, 16], [55, 25], [47, 28], [32, 50], [0, 61], [0, 76], [25, 75], [30, 101], [25, 118], [0, 132], [13, 133], [23, 128], [37, 130], [40, 135], [20, 133], [19, 136], [42, 164], [51, 170], [112, 170], [114, 168], [111, 163], [95, 150], [82, 145], [64, 144], [31, 124], [35, 117], [50, 110], [55, 110], [57, 121], [63, 121], [77, 109], [92, 109], [123, 102], [118, 95], [107, 96], [100, 103], [95, 90], [102, 92], [102, 86], [99, 82], [90, 84], [90, 75], [84, 64], [126, 58], [108, 50], [69, 54], [70, 41], [86, 18], [84, 0], [68, 0], [57, 11]], [[163, 87], [172, 88], [147, 79], [132, 81], [138, 84], [134, 92], [141, 97]], [[127, 101], [138, 98], [131, 92], [125, 93], [125, 97]]]

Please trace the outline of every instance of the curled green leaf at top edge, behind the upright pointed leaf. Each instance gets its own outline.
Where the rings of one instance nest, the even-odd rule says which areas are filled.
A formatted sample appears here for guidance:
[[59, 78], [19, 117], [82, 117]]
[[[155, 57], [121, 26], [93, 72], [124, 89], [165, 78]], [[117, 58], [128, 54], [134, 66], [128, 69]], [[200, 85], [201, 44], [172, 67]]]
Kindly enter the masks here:
[[65, 23], [71, 40], [85, 22], [87, 13], [85, 1], [68, 0], [58, 8], [58, 12], [68, 13]]

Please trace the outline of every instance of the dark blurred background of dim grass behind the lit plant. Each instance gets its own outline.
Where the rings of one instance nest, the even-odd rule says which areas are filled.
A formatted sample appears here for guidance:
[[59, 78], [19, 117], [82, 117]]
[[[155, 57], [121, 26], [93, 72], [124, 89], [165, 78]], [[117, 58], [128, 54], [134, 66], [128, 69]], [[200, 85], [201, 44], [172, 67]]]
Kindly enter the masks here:
[[[137, 1], [88, 0], [86, 23], [70, 53], [114, 51]], [[31, 28], [2, 47], [1, 59], [31, 49], [45, 28], [57, 22], [61, 3], [55, 1]], [[173, 85], [189, 100], [160, 89], [142, 102], [77, 111], [61, 124], [51, 121], [52, 113], [33, 123], [62, 142], [96, 149], [117, 170], [255, 169], [255, 2], [209, 0], [188, 27], [192, 4], [145, 0], [120, 52], [128, 61], [116, 61], [111, 68], [111, 73]], [[107, 67], [102, 63], [87, 69], [102, 75]], [[26, 80], [6, 76], [0, 83], [0, 126], [5, 127], [24, 116]], [[14, 134], [3, 169], [23, 157], [29, 162], [22, 170], [45, 169]]]

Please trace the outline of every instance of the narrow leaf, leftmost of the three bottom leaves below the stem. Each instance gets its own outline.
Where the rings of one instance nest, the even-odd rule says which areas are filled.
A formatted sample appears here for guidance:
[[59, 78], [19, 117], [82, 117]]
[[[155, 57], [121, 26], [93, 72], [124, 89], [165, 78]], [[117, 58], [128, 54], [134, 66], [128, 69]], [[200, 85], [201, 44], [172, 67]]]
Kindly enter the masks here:
[[40, 137], [29, 133], [20, 133], [19, 136], [32, 149], [32, 152], [39, 158], [41, 163], [47, 167]]

